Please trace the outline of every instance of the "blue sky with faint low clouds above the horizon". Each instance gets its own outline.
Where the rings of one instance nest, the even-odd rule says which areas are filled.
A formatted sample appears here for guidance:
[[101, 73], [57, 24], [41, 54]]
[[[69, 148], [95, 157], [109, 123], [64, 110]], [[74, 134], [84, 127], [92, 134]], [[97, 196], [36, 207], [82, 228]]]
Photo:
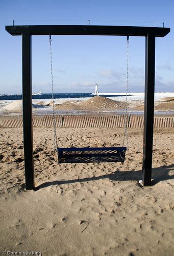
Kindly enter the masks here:
[[[111, 25], [170, 28], [156, 38], [156, 92], [174, 92], [173, 0], [0, 0], [0, 94], [22, 93], [21, 36], [5, 26]], [[52, 36], [55, 93], [126, 92], [126, 36]], [[144, 92], [145, 38], [129, 40], [129, 92]], [[32, 36], [32, 91], [51, 93], [49, 36]]]

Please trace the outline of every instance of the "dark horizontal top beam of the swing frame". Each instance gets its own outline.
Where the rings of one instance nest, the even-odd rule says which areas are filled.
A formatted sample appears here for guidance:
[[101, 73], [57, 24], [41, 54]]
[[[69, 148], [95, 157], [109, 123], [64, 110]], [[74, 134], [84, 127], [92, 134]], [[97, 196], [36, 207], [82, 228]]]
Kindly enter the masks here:
[[30, 25], [6, 26], [11, 35], [113, 35], [113, 36], [147, 36], [164, 37], [170, 28], [132, 27], [132, 26], [87, 26], [87, 25]]

